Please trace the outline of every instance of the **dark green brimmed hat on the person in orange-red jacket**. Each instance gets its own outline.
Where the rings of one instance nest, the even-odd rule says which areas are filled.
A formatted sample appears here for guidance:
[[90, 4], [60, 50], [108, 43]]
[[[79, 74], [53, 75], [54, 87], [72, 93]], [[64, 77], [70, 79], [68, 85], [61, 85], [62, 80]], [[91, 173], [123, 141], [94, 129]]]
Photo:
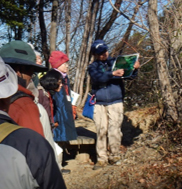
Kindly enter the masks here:
[[0, 49], [0, 56], [6, 64], [31, 66], [35, 72], [47, 71], [45, 66], [36, 64], [36, 56], [30, 45], [20, 40], [4, 45]]

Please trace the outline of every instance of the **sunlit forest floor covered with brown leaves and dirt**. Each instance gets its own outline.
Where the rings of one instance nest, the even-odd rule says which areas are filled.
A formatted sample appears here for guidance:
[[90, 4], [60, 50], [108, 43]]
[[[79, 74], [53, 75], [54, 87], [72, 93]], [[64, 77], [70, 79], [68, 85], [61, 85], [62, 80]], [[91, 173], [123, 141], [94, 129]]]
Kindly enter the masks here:
[[[136, 111], [132, 117], [138, 117], [134, 114]], [[166, 129], [143, 132], [128, 122], [125, 116], [122, 159], [117, 165], [93, 170], [94, 144], [68, 147], [64, 168], [71, 173], [63, 175], [67, 189], [182, 189], [182, 130], [171, 131], [169, 137]], [[84, 129], [90, 137], [96, 137], [93, 121], [79, 113], [76, 127], [81, 129], [79, 132]]]

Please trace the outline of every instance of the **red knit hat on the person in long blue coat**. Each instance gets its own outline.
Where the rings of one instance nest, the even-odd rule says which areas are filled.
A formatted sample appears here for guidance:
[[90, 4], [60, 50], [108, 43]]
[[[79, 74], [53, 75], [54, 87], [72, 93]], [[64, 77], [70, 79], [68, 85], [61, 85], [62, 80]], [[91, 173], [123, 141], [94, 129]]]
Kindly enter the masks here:
[[69, 58], [66, 54], [61, 51], [52, 51], [51, 56], [49, 58], [49, 63], [51, 64], [52, 68], [58, 68], [65, 62], [68, 62]]

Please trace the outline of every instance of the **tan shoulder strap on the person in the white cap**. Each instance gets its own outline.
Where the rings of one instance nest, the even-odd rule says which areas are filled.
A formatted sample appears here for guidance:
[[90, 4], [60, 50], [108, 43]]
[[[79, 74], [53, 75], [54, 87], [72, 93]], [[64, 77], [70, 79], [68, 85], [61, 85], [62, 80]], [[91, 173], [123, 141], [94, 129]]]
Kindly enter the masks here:
[[2, 123], [0, 125], [0, 142], [2, 142], [10, 133], [21, 128], [23, 127], [8, 122]]

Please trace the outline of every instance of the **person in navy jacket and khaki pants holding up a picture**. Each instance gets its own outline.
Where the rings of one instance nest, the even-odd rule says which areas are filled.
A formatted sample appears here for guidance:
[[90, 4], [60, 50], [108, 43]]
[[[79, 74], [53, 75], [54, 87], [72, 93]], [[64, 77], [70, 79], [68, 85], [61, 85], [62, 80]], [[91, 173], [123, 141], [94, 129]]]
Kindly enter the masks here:
[[[95, 94], [94, 122], [97, 130], [97, 163], [99, 169], [120, 160], [121, 125], [123, 122], [124, 69], [112, 71], [115, 58], [109, 58], [108, 47], [103, 40], [96, 40], [91, 46], [95, 61], [88, 67]], [[139, 62], [134, 64], [137, 75]], [[109, 150], [108, 150], [109, 149]]]

